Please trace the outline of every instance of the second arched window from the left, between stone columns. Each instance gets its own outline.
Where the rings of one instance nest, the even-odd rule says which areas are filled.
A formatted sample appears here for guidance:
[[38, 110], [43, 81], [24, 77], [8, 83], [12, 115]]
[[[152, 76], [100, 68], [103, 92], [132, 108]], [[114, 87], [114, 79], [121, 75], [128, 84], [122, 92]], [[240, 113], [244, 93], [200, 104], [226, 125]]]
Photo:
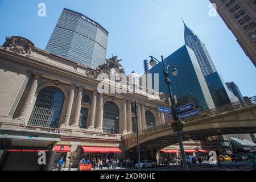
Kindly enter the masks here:
[[112, 101], [106, 102], [104, 104], [103, 126], [102, 126], [104, 133], [118, 134], [118, 121], [119, 121], [118, 106]]

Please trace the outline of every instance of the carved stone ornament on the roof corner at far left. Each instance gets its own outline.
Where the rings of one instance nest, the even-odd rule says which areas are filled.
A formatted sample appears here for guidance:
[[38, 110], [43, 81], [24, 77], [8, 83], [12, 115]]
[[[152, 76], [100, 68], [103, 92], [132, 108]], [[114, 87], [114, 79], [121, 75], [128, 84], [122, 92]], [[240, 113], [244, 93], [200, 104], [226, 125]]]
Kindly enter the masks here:
[[6, 37], [6, 41], [3, 44], [3, 47], [14, 53], [19, 53], [21, 55], [30, 57], [31, 49], [34, 47], [34, 44], [30, 40], [20, 36], [11, 36]]

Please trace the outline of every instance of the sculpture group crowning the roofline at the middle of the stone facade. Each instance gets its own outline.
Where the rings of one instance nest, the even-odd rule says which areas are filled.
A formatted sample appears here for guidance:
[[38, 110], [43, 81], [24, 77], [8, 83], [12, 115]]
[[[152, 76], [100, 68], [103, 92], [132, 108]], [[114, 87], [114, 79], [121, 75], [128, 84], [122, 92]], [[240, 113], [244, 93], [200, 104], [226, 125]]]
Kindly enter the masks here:
[[111, 75], [125, 73], [125, 69], [123, 69], [122, 65], [119, 63], [121, 60], [118, 60], [117, 56], [112, 55], [112, 57], [106, 60], [105, 64], [101, 64], [98, 66], [97, 71], [100, 73], [107, 73]]

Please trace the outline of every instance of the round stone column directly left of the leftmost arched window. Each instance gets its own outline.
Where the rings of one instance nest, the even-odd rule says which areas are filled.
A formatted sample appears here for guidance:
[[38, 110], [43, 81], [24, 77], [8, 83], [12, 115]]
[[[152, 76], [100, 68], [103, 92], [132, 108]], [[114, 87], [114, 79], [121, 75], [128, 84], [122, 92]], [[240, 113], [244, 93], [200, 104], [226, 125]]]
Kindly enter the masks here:
[[18, 115], [17, 118], [20, 118], [20, 119], [25, 119], [26, 118], [28, 109], [30, 107], [31, 102], [33, 101], [33, 97], [35, 96], [36, 89], [38, 88], [39, 81], [40, 81], [40, 77], [35, 76], [34, 80], [32, 81], [32, 84], [31, 84], [31, 86], [28, 90], [27, 98], [24, 101], [23, 107], [20, 110], [19, 115]]

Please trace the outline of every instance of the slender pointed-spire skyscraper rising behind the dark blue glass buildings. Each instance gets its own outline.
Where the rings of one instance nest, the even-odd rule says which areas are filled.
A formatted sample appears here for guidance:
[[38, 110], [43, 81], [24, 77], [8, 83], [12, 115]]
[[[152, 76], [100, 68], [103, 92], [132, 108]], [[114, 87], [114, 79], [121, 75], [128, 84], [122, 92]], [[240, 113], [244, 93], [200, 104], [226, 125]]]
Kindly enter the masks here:
[[212, 58], [210, 57], [204, 43], [201, 42], [199, 37], [190, 28], [188, 28], [185, 23], [184, 26], [185, 44], [195, 52], [196, 59], [199, 63], [201, 71], [203, 72], [203, 75], [207, 76], [216, 72], [215, 65], [213, 64]]

